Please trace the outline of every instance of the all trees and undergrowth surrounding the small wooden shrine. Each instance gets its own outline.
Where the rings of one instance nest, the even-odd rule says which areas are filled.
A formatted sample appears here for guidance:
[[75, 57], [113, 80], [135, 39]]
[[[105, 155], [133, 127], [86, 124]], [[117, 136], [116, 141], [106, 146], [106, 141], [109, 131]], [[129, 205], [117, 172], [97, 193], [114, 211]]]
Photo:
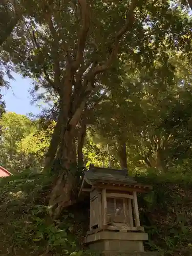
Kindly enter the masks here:
[[90, 253], [86, 210], [65, 207], [90, 163], [152, 184], [140, 197], [146, 248], [192, 255], [190, 5], [0, 2], [0, 89], [19, 73], [46, 103], [19, 115], [0, 95], [0, 164], [14, 174], [1, 181], [1, 256]]

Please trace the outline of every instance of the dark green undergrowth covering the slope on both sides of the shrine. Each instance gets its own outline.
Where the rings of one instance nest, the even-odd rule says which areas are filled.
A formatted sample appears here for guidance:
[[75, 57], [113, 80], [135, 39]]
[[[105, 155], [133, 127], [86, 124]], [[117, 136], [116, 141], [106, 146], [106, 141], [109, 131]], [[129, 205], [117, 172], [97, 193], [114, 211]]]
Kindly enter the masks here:
[[[157, 175], [149, 170], [138, 179], [153, 185], [139, 196], [141, 223], [150, 240], [145, 246], [163, 255], [191, 253], [191, 178]], [[21, 256], [45, 252], [55, 255], [90, 255], [83, 247], [89, 227], [89, 200], [62, 211], [53, 221], [49, 215], [50, 174], [19, 174], [1, 179], [1, 254]]]

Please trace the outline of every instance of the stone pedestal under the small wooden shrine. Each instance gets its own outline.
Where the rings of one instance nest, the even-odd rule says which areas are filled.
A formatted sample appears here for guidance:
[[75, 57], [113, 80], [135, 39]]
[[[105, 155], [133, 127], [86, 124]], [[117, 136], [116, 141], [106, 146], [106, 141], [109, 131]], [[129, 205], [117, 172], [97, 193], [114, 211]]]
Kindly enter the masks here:
[[[127, 254], [135, 252], [134, 256], [141, 256], [138, 254], [144, 252], [143, 241], [148, 240], [148, 234], [144, 232], [114, 232], [114, 231], [100, 231], [86, 237], [90, 249], [103, 253], [103, 255], [132, 255]], [[146, 255], [146, 254], [145, 254]]]

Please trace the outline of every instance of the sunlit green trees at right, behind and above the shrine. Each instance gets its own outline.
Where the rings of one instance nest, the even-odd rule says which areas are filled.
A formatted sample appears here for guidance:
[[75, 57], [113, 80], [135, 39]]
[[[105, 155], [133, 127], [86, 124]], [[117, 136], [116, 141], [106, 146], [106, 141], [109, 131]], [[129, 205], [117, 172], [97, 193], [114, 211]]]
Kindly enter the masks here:
[[167, 61], [172, 69], [165, 72], [156, 61], [151, 77], [144, 67], [130, 73], [125, 61], [119, 87], [115, 81], [96, 110], [92, 130], [116, 152], [124, 141], [132, 170], [149, 166], [166, 172], [191, 157], [190, 66], [173, 51]]

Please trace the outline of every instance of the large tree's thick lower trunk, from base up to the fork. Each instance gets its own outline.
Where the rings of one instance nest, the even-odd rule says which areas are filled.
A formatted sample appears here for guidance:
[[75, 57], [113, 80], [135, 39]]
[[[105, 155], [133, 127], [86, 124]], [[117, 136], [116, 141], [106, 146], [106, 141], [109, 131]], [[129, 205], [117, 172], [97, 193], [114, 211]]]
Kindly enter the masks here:
[[[63, 113], [63, 115], [62, 124], [60, 126], [59, 144], [56, 152], [57, 165], [55, 165], [59, 175], [56, 178], [49, 202], [52, 206], [50, 213], [53, 219], [57, 219], [63, 207], [71, 203], [75, 196], [73, 195], [73, 191], [76, 187], [77, 155], [74, 138], [76, 124], [80, 119], [81, 112], [78, 110], [79, 115], [73, 115], [73, 117], [76, 116], [74, 120], [70, 117], [70, 100], [67, 100], [65, 97], [61, 100], [61, 104], [61, 113]], [[71, 122], [72, 119], [73, 122]]]

